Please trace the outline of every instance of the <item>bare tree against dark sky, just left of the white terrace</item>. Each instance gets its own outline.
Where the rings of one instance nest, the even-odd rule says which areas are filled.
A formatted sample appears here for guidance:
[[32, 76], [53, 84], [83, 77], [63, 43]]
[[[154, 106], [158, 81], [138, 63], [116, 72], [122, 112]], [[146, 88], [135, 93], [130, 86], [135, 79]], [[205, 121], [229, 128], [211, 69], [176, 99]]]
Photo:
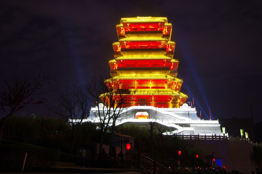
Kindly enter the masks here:
[[50, 107], [51, 112], [67, 120], [72, 131], [70, 134], [71, 154], [73, 154], [76, 135], [82, 120], [89, 115], [91, 102], [84, 86], [73, 86], [57, 96], [57, 105]]

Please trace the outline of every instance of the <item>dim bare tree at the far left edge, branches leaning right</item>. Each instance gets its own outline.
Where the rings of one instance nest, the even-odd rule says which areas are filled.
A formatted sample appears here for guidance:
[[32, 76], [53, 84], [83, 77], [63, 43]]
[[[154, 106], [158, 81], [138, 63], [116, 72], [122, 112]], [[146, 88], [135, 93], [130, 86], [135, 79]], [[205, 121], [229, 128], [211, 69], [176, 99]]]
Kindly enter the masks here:
[[57, 76], [50, 76], [47, 72], [39, 70], [36, 77], [11, 78], [4, 80], [3, 88], [0, 91], [0, 110], [3, 111], [3, 117], [0, 119], [0, 144], [5, 121], [13, 116], [14, 113], [23, 109], [29, 104], [41, 104], [45, 102], [43, 96], [51, 90], [56, 89], [56, 85], [43, 87], [55, 80]]

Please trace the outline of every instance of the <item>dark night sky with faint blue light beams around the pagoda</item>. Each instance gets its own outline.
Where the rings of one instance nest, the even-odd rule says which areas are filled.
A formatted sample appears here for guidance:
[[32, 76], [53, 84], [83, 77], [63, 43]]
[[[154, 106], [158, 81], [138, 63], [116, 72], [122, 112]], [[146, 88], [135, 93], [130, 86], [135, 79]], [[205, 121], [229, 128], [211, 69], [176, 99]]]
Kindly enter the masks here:
[[[3, 0], [0, 74], [26, 75], [36, 66], [61, 76], [62, 88], [109, 72], [121, 17], [163, 16], [172, 23], [181, 92], [197, 114], [262, 121], [261, 0]], [[47, 103], [53, 102], [53, 94]], [[258, 103], [257, 103], [258, 102]], [[44, 105], [16, 115], [47, 116]], [[0, 114], [3, 114], [2, 112]]]

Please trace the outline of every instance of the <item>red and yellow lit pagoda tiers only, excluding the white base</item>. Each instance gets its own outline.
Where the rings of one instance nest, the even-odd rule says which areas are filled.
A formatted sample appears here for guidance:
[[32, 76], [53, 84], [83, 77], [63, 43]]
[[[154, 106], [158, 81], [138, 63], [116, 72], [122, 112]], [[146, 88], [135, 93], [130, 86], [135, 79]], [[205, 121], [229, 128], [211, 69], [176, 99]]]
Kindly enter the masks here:
[[179, 61], [174, 59], [172, 25], [166, 17], [121, 18], [116, 25], [118, 42], [110, 60], [113, 83], [131, 90], [131, 106], [179, 108], [187, 99], [177, 78]]

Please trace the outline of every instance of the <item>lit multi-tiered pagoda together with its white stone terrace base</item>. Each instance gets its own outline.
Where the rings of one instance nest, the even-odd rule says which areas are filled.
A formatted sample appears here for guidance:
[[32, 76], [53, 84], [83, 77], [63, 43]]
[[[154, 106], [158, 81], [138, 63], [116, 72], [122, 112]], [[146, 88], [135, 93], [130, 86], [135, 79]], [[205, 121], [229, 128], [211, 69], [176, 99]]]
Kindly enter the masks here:
[[[188, 106], [177, 78], [179, 61], [174, 59], [175, 42], [170, 41], [172, 25], [166, 17], [121, 18], [116, 25], [118, 42], [109, 61], [108, 87], [128, 89], [129, 101], [122, 111], [128, 122], [145, 125], [157, 122], [176, 134], [222, 134], [218, 120], [201, 120], [196, 108]], [[86, 121], [96, 122], [97, 108]], [[143, 119], [141, 119], [143, 118]]]

